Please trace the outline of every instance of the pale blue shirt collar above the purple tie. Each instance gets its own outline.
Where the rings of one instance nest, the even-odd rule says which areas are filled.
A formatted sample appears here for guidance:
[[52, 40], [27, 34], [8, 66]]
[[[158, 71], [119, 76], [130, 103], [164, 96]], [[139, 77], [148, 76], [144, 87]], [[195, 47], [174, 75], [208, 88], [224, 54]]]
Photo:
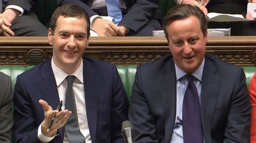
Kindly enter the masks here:
[[[176, 63], [174, 63], [175, 65], [175, 72], [176, 72], [176, 80], [179, 80], [181, 77], [187, 75], [188, 73], [181, 70]], [[196, 79], [202, 81], [202, 75], [203, 75], [203, 70], [204, 70], [204, 59], [203, 62], [201, 63], [200, 67], [197, 68], [196, 71], [192, 72], [191, 75], [195, 76]]]

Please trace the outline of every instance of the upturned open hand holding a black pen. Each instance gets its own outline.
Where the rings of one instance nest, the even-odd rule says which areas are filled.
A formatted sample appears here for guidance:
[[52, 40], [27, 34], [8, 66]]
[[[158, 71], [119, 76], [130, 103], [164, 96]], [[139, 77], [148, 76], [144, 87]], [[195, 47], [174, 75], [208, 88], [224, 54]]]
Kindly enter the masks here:
[[[69, 116], [71, 115], [71, 111], [63, 110], [52, 110], [52, 107], [48, 105], [48, 103], [42, 99], [39, 100], [40, 105], [42, 105], [44, 109], [44, 120], [42, 122], [42, 133], [44, 136], [52, 137], [56, 134], [57, 129], [63, 127], [67, 122]], [[47, 128], [49, 123], [51, 122], [52, 117], [55, 116], [54, 122], [52, 123], [51, 129], [47, 132]]]

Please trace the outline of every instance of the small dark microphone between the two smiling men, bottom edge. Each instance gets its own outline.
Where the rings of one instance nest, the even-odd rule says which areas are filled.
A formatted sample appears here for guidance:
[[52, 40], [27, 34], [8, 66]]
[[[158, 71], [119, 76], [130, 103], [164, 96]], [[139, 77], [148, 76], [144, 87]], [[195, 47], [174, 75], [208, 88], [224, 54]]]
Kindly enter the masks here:
[[129, 120], [125, 120], [122, 123], [121, 133], [126, 143], [134, 143], [135, 131]]

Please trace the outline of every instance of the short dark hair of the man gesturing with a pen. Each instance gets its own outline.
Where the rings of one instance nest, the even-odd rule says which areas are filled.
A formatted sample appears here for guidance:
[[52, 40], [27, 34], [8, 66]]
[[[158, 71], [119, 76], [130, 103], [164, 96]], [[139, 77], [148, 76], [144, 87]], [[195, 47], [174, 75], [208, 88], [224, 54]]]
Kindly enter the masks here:
[[84, 9], [82, 9], [80, 6], [77, 5], [63, 5], [54, 11], [52, 14], [51, 22], [50, 22], [50, 28], [52, 35], [54, 34], [57, 19], [63, 16], [64, 18], [84, 18], [87, 23], [87, 38], [90, 37], [90, 19], [89, 15], [86, 13]]

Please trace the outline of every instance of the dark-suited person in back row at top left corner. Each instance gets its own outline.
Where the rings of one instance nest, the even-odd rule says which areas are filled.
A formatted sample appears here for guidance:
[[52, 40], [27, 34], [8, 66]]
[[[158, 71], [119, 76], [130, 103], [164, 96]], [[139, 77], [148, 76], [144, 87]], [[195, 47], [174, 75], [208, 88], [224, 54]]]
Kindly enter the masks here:
[[56, 0], [9, 0], [0, 14], [2, 36], [47, 36], [47, 27], [53, 11], [59, 6]]

